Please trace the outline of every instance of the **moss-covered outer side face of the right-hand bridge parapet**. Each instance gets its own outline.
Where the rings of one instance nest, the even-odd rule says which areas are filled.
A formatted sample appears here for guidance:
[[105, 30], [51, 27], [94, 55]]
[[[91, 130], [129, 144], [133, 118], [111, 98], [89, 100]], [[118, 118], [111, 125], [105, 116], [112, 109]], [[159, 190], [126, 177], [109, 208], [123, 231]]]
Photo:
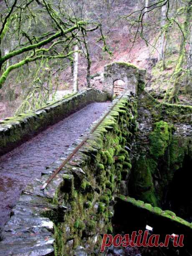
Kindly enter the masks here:
[[[63, 222], [55, 224], [55, 255], [73, 255], [79, 246], [86, 248], [88, 255], [99, 253], [100, 234], [112, 232], [112, 202], [131, 171], [125, 146], [135, 127], [136, 101], [125, 95], [78, 152], [76, 167], [68, 166], [73, 182], [68, 193], [60, 190], [59, 198], [71, 210]], [[73, 172], [77, 166], [83, 171], [78, 176]]]

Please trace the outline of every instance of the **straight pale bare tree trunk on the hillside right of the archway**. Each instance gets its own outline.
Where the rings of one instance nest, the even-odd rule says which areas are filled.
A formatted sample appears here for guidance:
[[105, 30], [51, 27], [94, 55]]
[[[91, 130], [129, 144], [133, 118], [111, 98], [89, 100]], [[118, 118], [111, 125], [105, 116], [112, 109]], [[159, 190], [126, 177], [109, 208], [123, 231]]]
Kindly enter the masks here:
[[165, 67], [165, 50], [167, 46], [167, 29], [165, 30], [164, 26], [166, 25], [166, 11], [167, 5], [162, 6], [161, 14], [161, 28], [163, 29], [162, 35], [159, 42], [159, 58], [158, 61], [163, 61], [163, 70]]

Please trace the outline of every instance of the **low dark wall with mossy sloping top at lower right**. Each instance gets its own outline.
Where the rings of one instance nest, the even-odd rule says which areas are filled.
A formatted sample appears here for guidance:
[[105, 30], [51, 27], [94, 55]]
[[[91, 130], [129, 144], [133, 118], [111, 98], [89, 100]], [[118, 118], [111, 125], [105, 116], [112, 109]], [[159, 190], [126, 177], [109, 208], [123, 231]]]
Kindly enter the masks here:
[[[125, 232], [146, 230], [148, 225], [153, 228], [153, 233], [159, 234], [162, 239], [168, 234], [182, 234], [185, 248], [191, 251], [192, 223], [177, 217], [170, 210], [162, 210], [134, 198], [119, 195], [116, 200], [114, 218], [118, 220], [120, 226], [125, 227]], [[120, 209], [124, 210], [120, 211]]]

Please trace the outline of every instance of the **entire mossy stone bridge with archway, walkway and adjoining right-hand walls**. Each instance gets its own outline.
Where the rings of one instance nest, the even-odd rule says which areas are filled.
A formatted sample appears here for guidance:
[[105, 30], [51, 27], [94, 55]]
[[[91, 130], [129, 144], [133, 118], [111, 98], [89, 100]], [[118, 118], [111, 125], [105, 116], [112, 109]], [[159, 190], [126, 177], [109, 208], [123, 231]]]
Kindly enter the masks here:
[[[103, 92], [87, 89], [1, 122], [0, 255], [99, 255], [102, 234], [124, 226], [116, 217], [122, 205], [131, 218], [147, 211], [170, 232], [191, 237], [189, 222], [159, 207], [174, 172], [192, 159], [192, 107], [159, 104], [143, 91], [144, 76], [129, 63], [112, 63]], [[124, 94], [107, 101], [117, 79]], [[145, 216], [131, 228], [156, 225]]]

